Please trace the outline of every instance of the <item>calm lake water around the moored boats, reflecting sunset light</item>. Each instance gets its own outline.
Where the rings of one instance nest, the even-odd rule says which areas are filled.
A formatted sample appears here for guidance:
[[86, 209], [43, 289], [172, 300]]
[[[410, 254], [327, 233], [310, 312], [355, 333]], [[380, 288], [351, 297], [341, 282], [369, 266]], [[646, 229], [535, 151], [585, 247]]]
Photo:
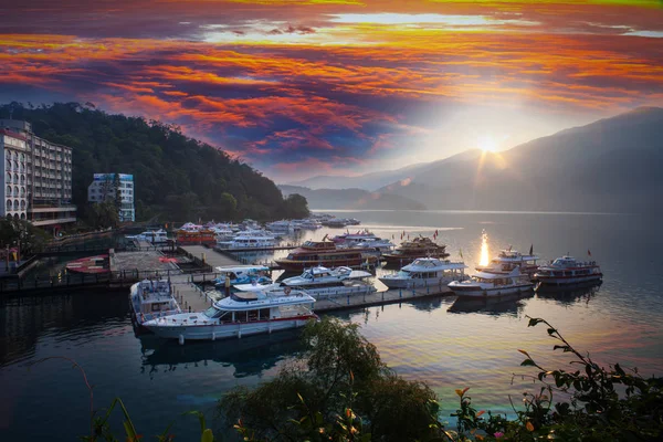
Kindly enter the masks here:
[[[603, 365], [635, 366], [663, 375], [663, 240], [659, 220], [632, 214], [497, 212], [334, 212], [355, 217], [376, 234], [430, 235], [448, 244], [452, 259], [477, 263], [481, 233], [491, 254], [513, 245], [550, 260], [588, 250], [603, 271], [603, 284], [585, 291], [533, 295], [490, 305], [459, 305], [449, 296], [403, 302], [336, 314], [361, 324], [383, 360], [408, 379], [428, 382], [440, 396], [443, 418], [456, 407], [454, 389], [470, 387], [480, 409], [511, 412], [530, 383], [513, 373], [532, 373], [518, 365], [517, 349], [558, 368], [544, 327], [527, 327], [526, 316], [544, 317], [578, 349]], [[352, 230], [357, 230], [354, 228]], [[309, 236], [322, 239], [327, 229]], [[297, 355], [297, 333], [215, 343], [162, 341], [136, 337], [125, 295], [76, 294], [6, 301], [0, 305], [0, 440], [73, 441], [87, 431], [88, 392], [75, 359], [94, 385], [96, 408], [120, 397], [139, 432], [159, 433], [175, 421], [180, 441], [199, 440], [188, 410], [212, 417], [228, 389], [253, 386], [277, 373]], [[119, 414], [114, 423], [119, 425]], [[118, 427], [120, 429], [122, 427]]]

